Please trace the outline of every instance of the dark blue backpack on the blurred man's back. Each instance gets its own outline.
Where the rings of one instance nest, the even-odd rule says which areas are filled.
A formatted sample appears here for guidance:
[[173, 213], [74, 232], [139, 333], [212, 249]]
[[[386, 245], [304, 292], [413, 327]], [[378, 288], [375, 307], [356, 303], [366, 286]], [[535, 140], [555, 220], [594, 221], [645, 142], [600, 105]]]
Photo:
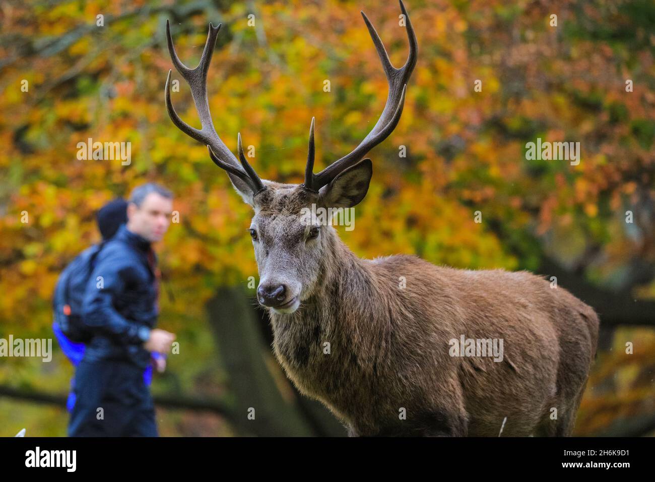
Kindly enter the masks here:
[[104, 244], [103, 241], [78, 254], [64, 268], [54, 289], [52, 298], [54, 322], [65, 336], [75, 343], [86, 343], [92, 338], [92, 333], [84, 325], [82, 304], [88, 278]]

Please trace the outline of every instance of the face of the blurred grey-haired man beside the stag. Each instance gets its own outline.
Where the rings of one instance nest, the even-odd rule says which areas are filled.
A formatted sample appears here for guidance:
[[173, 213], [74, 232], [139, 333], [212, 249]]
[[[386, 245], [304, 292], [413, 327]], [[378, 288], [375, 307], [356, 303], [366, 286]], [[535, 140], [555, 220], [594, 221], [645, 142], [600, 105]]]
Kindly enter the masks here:
[[140, 207], [134, 203], [128, 205], [128, 230], [145, 237], [151, 243], [159, 241], [168, 230], [172, 211], [172, 199], [158, 193], [149, 193]]

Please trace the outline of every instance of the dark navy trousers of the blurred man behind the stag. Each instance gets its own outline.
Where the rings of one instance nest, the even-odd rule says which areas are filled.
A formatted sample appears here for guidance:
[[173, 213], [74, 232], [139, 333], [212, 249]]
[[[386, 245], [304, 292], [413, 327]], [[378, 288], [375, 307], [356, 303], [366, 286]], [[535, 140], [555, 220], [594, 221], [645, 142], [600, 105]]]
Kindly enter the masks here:
[[75, 397], [69, 437], [158, 436], [143, 369], [132, 363], [83, 359], [75, 371]]

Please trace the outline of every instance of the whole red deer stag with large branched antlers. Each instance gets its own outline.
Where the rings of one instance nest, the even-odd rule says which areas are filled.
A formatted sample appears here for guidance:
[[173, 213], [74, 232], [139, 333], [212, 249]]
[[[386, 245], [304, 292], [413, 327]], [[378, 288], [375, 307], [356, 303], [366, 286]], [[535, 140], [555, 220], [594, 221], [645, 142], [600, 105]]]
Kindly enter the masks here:
[[569, 435], [595, 356], [599, 320], [592, 308], [526, 271], [455, 270], [403, 255], [361, 259], [331, 222], [303, 216], [312, 207], [350, 208], [364, 199], [373, 169], [363, 157], [398, 124], [417, 62], [402, 1], [400, 9], [409, 38], [400, 69], [362, 12], [389, 86], [381, 117], [352, 152], [318, 174], [312, 119], [302, 184], [262, 180], [241, 136], [237, 160], [217, 135], [206, 78], [220, 24], [210, 24], [200, 64], [190, 69], [166, 22], [172, 62], [191, 87], [202, 129], [174, 110], [171, 71], [168, 114], [206, 144], [252, 206], [257, 299], [271, 315], [275, 356], [300, 392], [322, 401], [349, 435]]

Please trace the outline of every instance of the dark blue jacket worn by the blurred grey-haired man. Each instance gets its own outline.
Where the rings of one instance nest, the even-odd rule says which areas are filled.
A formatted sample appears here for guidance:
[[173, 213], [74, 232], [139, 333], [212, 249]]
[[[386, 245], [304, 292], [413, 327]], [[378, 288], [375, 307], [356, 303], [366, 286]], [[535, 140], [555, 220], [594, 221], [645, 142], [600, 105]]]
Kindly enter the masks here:
[[[122, 360], [147, 367], [143, 342], [157, 324], [156, 276], [148, 261], [151, 245], [122, 225], [105, 243], [84, 292], [84, 324], [93, 332], [84, 359]], [[156, 256], [152, 252], [156, 264]]]

